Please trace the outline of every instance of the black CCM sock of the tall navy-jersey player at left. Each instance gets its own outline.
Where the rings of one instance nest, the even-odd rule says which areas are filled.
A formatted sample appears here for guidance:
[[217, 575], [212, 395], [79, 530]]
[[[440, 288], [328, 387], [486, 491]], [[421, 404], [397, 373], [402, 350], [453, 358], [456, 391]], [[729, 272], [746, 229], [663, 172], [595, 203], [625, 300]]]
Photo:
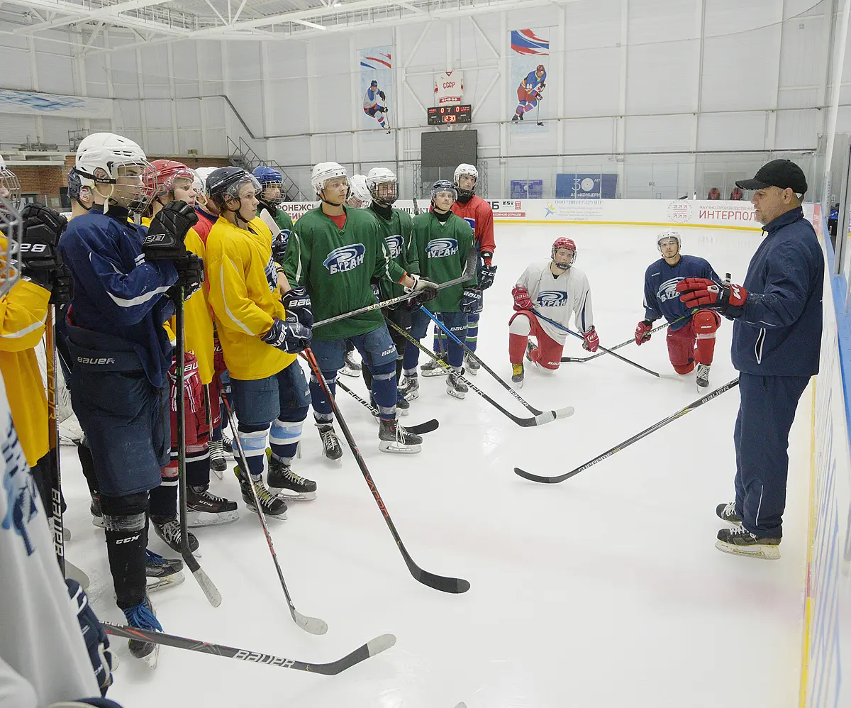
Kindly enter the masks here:
[[126, 497], [100, 497], [106, 531], [106, 553], [119, 608], [145, 599], [145, 548], [148, 544], [146, 492]]

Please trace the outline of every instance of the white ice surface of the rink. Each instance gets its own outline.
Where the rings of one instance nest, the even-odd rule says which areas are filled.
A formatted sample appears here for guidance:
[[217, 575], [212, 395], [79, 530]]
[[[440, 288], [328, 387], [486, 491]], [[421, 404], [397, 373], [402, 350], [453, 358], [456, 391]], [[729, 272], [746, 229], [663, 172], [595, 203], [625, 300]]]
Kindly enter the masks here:
[[[644, 270], [659, 257], [657, 231], [497, 226], [499, 271], [485, 294], [479, 354], [510, 380], [511, 287], [529, 262], [549, 258], [558, 236], [577, 243], [601, 343], [631, 337], [643, 317]], [[760, 239], [757, 231], [682, 233], [684, 253], [739, 283]], [[670, 373], [664, 334], [619, 353]], [[731, 334], [724, 320], [711, 388], [736, 375]], [[571, 338], [565, 354], [585, 356]], [[365, 395], [363, 381], [344, 380]], [[474, 381], [505, 408], [530, 415], [484, 370]], [[113, 638], [121, 666], [110, 697], [125, 708], [797, 705], [810, 389], [791, 432], [776, 562], [714, 546], [722, 528], [715, 506], [733, 499], [738, 389], [557, 485], [527, 482], [512, 468], [551, 475], [582, 465], [699, 397], [694, 374], [657, 380], [608, 356], [555, 373], [527, 367], [529, 403], [576, 408], [572, 418], [540, 428], [519, 427], [472, 391], [464, 401], [448, 397], [443, 377], [421, 378], [421, 391], [403, 422], [437, 418], [440, 428], [410, 456], [380, 453], [366, 411], [343, 391], [338, 401], [414, 560], [469, 580], [469, 592], [444, 594], [411, 577], [351, 451], [340, 466], [324, 460], [309, 415], [294, 469], [317, 481], [318, 498], [290, 504], [288, 520], [269, 525], [296, 608], [326, 620], [328, 634], [313, 637], [294, 625], [260, 524], [230, 470], [224, 482], [214, 478], [212, 491], [238, 500], [240, 520], [195, 531], [202, 567], [224, 598], [220, 608], [210, 607], [188, 570], [183, 585], [151, 599], [167, 632], [293, 659], [339, 659], [385, 632], [396, 635], [396, 646], [324, 677], [168, 647], [151, 671]], [[73, 448], [63, 448], [63, 462], [67, 556], [91, 577], [100, 618], [123, 624]], [[176, 557], [150, 535], [151, 550]]]

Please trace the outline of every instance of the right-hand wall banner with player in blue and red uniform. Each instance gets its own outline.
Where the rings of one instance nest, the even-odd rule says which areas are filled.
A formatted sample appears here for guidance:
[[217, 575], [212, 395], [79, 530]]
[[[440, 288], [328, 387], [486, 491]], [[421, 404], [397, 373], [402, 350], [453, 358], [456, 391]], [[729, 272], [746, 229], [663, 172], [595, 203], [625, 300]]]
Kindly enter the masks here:
[[552, 94], [547, 88], [550, 59], [550, 28], [511, 30], [508, 65], [508, 105], [511, 123], [543, 127]]

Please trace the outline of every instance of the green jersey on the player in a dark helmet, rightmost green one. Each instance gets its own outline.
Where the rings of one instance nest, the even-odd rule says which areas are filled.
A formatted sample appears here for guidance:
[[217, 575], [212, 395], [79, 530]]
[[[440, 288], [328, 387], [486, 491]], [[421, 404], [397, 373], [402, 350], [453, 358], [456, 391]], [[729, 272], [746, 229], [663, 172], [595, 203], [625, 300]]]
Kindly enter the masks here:
[[[460, 216], [449, 214], [442, 223], [434, 212], [429, 211], [414, 217], [412, 241], [416, 260], [409, 261], [411, 271], [440, 285], [463, 274], [467, 256], [473, 247], [473, 230]], [[466, 283], [440, 290], [437, 298], [426, 306], [432, 312], [457, 312], [464, 288], [475, 284], [476, 274], [473, 273]]]

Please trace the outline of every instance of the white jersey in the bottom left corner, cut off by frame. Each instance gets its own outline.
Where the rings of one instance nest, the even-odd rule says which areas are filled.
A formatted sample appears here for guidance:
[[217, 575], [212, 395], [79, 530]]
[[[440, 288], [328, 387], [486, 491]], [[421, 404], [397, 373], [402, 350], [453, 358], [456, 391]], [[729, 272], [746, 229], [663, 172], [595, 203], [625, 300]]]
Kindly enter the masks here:
[[0, 377], [0, 705], [100, 697]]

